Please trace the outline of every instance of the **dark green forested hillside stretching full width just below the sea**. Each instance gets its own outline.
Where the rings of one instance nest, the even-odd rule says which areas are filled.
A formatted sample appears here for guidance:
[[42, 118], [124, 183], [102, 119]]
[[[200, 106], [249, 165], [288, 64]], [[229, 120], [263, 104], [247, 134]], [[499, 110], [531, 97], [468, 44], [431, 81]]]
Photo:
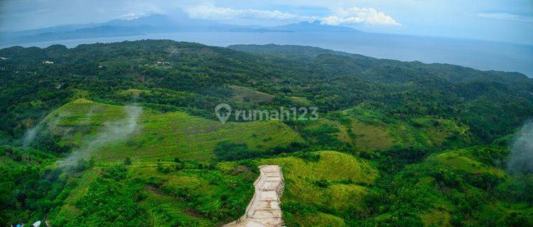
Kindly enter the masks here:
[[[19, 136], [27, 127], [21, 125], [23, 119], [35, 123], [43, 117], [31, 113], [33, 109], [51, 111], [71, 96], [131, 101], [131, 96], [119, 93], [125, 89], [146, 91], [136, 99], [141, 105], [187, 108], [212, 118], [212, 111], [206, 110], [218, 103], [242, 108], [254, 105], [233, 101], [232, 85], [273, 95], [273, 101], [262, 108], [296, 106], [303, 99], [321, 112], [360, 105], [402, 121], [428, 115], [448, 118], [469, 126], [485, 143], [510, 133], [533, 112], [533, 79], [523, 74], [379, 60], [298, 46], [254, 48], [270, 54], [250, 55], [170, 40], [72, 49], [60, 45], [6, 48], [0, 50], [8, 58], [1, 61], [5, 67], [1, 111], [6, 114], [0, 128]], [[302, 52], [308, 57], [292, 57]], [[44, 60], [54, 63], [43, 64]], [[26, 112], [18, 116], [7, 111], [16, 106], [30, 108], [19, 108]]]

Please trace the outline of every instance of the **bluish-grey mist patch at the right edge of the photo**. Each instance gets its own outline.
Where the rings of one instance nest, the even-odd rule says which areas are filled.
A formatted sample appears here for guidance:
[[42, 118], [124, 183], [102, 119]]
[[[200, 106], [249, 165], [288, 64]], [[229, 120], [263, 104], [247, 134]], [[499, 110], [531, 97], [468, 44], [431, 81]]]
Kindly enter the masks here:
[[533, 121], [522, 126], [510, 150], [507, 171], [511, 174], [533, 173]]

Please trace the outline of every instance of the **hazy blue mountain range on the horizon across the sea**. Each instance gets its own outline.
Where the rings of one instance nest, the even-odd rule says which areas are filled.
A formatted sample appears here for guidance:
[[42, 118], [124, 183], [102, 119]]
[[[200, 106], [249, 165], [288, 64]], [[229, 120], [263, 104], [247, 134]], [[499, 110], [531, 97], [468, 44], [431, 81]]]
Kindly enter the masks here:
[[349, 32], [357, 33], [353, 28], [328, 26], [320, 21], [291, 23], [284, 26], [236, 26], [188, 17], [183, 12], [168, 15], [151, 15], [134, 19], [115, 19], [105, 23], [86, 23], [49, 28], [32, 29], [0, 33], [0, 45], [15, 45], [53, 40], [77, 38], [98, 38], [109, 36], [142, 35], [149, 33], [176, 32]]

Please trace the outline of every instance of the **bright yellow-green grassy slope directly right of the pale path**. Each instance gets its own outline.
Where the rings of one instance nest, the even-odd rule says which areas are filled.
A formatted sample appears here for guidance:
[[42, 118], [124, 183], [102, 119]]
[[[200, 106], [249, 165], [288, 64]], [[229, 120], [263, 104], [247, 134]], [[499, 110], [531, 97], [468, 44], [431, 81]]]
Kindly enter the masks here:
[[[288, 226], [345, 226], [335, 216], [349, 209], [360, 209], [360, 200], [367, 194], [365, 185], [372, 184], [377, 170], [369, 162], [335, 151], [318, 152], [318, 162], [298, 157], [274, 157], [259, 160], [259, 165], [280, 165], [285, 179], [281, 199], [284, 221]], [[316, 182], [325, 180], [327, 187]], [[321, 211], [294, 211], [285, 204], [320, 208]], [[328, 214], [326, 211], [333, 213]]]

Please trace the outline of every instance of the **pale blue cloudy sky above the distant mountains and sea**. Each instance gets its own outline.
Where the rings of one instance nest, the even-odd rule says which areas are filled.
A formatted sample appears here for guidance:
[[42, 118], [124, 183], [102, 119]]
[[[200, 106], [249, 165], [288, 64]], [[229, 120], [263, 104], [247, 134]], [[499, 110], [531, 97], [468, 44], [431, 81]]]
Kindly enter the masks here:
[[181, 11], [192, 18], [238, 25], [276, 26], [318, 20], [366, 32], [533, 45], [533, 0], [0, 0], [0, 31]]

